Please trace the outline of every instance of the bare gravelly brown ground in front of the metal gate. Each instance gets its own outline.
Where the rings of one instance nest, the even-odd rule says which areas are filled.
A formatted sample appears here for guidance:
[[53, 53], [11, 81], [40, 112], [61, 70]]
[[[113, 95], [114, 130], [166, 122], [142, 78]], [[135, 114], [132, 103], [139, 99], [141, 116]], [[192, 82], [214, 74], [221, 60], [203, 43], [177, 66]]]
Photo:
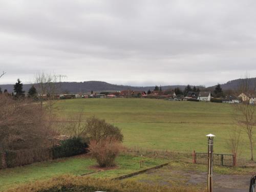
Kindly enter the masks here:
[[[136, 178], [137, 177], [137, 178]], [[216, 192], [248, 191], [251, 176], [214, 174]], [[146, 183], [158, 183], [169, 186], [193, 186], [200, 189], [207, 187], [207, 173], [194, 170], [175, 170], [170, 166], [150, 170], [135, 176], [134, 179]]]

